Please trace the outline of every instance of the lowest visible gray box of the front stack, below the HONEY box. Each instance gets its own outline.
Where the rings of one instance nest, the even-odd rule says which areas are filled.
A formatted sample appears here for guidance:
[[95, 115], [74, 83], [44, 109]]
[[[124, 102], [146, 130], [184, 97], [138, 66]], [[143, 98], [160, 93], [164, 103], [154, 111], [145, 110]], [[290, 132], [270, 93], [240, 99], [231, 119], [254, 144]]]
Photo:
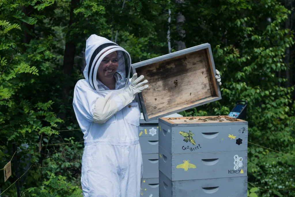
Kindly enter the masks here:
[[160, 173], [160, 197], [246, 197], [247, 176], [171, 181]]

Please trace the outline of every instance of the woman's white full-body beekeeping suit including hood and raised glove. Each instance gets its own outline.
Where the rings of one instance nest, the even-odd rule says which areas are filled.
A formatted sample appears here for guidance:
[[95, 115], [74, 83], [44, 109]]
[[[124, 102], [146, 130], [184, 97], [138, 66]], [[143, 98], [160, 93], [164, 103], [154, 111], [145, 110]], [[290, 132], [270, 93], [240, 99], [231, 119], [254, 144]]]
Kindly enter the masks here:
[[[115, 89], [96, 75], [102, 59], [116, 51]], [[131, 71], [130, 55], [116, 43], [91, 35], [86, 41], [85, 79], [77, 82], [73, 108], [84, 133], [81, 185], [84, 197], [139, 197], [142, 156], [139, 144], [138, 92], [147, 80]], [[139, 83], [140, 82], [140, 83]]]

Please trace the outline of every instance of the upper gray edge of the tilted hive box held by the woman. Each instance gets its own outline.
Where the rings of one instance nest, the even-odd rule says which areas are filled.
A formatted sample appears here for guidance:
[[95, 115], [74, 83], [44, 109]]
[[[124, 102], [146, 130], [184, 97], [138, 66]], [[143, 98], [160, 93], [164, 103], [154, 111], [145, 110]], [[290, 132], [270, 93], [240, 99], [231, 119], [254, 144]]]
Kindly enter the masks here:
[[194, 51], [199, 51], [199, 50], [202, 50], [202, 49], [205, 49], [205, 48], [209, 48], [209, 47], [211, 47], [211, 45], [209, 43], [205, 43], [205, 44], [201, 44], [201, 45], [194, 46], [194, 47], [191, 47], [191, 48], [183, 49], [181, 51], [176, 51], [176, 52], [173, 52], [173, 53], [168, 53], [168, 54], [163, 55], [163, 56], [160, 56], [160, 57], [156, 57], [156, 58], [152, 58], [152, 59], [149, 59], [149, 60], [145, 60], [145, 61], [141, 61], [141, 62], [132, 64], [131, 65], [131, 67], [132, 67], [132, 74], [134, 74], [135, 73], [135, 69], [137, 69], [139, 67], [146, 66], [148, 64], [153, 64], [153, 63], [156, 63], [156, 62], [159, 62], [159, 61], [164, 61], [164, 60], [167, 60], [167, 59], [170, 59], [170, 58], [174, 58], [174, 57], [177, 57], [177, 56], [181, 56], [181, 55], [184, 55], [184, 54], [187, 54], [187, 53], [191, 53], [191, 52], [194, 52]]

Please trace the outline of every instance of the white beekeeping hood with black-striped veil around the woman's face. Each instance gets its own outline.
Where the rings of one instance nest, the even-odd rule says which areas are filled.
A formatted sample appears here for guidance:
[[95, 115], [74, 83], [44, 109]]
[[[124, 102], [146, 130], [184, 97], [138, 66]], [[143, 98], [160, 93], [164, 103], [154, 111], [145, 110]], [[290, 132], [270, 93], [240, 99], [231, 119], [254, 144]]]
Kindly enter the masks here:
[[86, 40], [85, 59], [86, 67], [83, 71], [85, 79], [95, 91], [103, 91], [96, 79], [97, 69], [102, 59], [108, 54], [117, 51], [118, 69], [114, 74], [116, 79], [116, 89], [124, 88], [129, 80], [131, 71], [131, 58], [127, 51], [116, 43], [95, 34]]

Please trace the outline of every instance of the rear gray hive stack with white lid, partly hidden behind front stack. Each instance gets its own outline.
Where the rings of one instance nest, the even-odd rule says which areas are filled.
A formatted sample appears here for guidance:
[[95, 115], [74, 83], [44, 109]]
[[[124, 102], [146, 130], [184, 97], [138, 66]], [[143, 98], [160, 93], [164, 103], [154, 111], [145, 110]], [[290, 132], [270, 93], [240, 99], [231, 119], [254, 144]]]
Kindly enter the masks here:
[[[172, 114], [170, 116], [182, 117], [182, 115], [179, 114]], [[143, 162], [143, 176], [141, 183], [141, 196], [143, 197], [159, 196], [158, 137], [158, 119], [145, 122], [143, 115], [141, 114], [139, 143]]]

